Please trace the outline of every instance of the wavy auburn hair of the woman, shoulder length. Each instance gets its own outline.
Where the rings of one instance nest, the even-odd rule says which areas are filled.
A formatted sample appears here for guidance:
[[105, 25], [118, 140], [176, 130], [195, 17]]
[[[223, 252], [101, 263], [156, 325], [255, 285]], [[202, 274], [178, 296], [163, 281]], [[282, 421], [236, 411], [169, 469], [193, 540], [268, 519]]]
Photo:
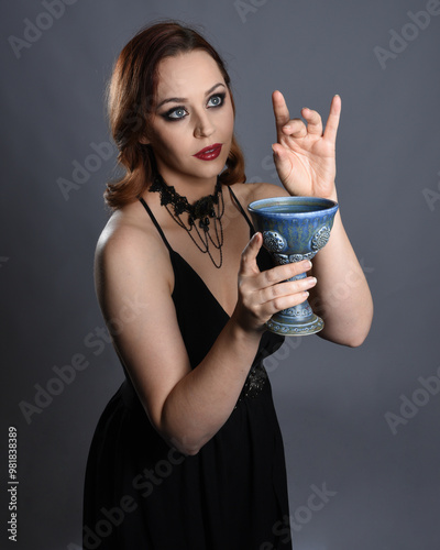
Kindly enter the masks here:
[[[142, 144], [158, 85], [158, 64], [194, 50], [207, 52], [217, 63], [230, 92], [230, 78], [216, 50], [194, 29], [177, 22], [156, 23], [141, 30], [122, 50], [107, 90], [110, 130], [117, 144], [118, 165], [125, 174], [107, 184], [106, 202], [118, 209], [133, 202], [152, 182], [155, 158], [150, 145]], [[220, 175], [222, 184], [245, 180], [243, 153], [232, 138], [231, 150]]]

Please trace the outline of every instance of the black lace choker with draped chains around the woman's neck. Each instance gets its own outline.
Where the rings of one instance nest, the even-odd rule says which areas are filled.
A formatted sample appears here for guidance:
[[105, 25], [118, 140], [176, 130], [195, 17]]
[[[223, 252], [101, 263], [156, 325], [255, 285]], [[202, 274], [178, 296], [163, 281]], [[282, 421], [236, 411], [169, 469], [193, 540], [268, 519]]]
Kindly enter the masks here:
[[[208, 254], [213, 265], [220, 268], [223, 263], [223, 253], [221, 250], [223, 245], [223, 227], [221, 218], [224, 213], [224, 200], [220, 178], [217, 178], [212, 195], [202, 197], [193, 205], [188, 202], [186, 197], [179, 195], [173, 186], [167, 185], [161, 174], [154, 176], [150, 191], [161, 195], [161, 205], [167, 209], [174, 221], [180, 228], [185, 229], [199, 251]], [[184, 212], [188, 213], [187, 223], [182, 219]], [[198, 223], [196, 223], [197, 220]], [[210, 220], [212, 220], [212, 224]], [[193, 230], [195, 230], [196, 234], [193, 234]], [[219, 251], [219, 258], [217, 261], [212, 256], [210, 246]]]

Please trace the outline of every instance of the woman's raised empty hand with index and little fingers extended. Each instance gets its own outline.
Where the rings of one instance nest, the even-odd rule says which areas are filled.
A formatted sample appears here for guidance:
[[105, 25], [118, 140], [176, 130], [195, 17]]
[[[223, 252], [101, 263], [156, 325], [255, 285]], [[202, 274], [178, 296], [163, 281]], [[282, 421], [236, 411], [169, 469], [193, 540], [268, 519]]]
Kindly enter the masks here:
[[277, 143], [272, 145], [278, 177], [290, 195], [337, 200], [334, 187], [336, 141], [341, 98], [334, 96], [326, 129], [317, 111], [304, 108], [300, 119], [290, 119], [280, 91], [272, 95]]

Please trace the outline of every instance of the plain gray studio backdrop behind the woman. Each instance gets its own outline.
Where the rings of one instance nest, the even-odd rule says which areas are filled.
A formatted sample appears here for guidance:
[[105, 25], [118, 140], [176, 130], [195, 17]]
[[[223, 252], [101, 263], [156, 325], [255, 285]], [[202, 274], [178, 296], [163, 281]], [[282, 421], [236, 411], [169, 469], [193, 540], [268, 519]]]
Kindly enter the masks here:
[[274, 89], [295, 117], [342, 97], [341, 212], [375, 318], [361, 348], [289, 339], [267, 362], [294, 548], [440, 548], [437, 0], [2, 3], [1, 547], [80, 546], [88, 448], [122, 381], [92, 282], [116, 161], [103, 89], [162, 18], [201, 25], [224, 56], [250, 182], [276, 182]]

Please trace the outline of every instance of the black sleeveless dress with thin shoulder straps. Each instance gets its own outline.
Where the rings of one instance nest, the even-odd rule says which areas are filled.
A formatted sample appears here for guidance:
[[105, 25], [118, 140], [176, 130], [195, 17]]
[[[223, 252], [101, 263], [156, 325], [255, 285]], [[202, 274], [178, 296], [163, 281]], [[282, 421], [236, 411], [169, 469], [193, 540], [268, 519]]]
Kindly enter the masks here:
[[[173, 300], [195, 367], [229, 317], [144, 207], [169, 250]], [[262, 270], [271, 265], [263, 249], [257, 261]], [[102, 413], [89, 452], [84, 549], [292, 549], [283, 440], [262, 364], [282, 342], [263, 333], [234, 410], [196, 455], [165, 443], [127, 376]]]

